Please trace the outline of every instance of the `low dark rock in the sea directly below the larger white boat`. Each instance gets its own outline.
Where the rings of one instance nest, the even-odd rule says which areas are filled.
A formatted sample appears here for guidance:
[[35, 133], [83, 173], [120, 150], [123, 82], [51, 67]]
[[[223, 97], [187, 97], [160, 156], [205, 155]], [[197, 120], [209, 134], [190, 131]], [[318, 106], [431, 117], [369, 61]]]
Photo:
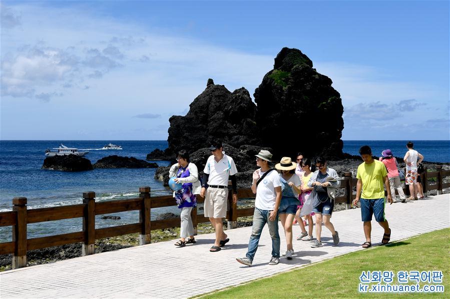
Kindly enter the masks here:
[[61, 171], [85, 171], [92, 170], [91, 161], [77, 155], [64, 155], [47, 157], [44, 160], [42, 169]]

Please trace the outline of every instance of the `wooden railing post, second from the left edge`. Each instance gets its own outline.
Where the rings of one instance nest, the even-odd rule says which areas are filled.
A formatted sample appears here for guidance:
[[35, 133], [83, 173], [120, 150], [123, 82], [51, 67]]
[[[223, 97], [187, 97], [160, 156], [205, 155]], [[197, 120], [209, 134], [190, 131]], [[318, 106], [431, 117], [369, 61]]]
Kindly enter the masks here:
[[95, 247], [95, 192], [84, 192], [83, 203], [86, 206], [83, 213], [85, 242], [82, 246], [82, 256], [89, 256], [94, 254]]

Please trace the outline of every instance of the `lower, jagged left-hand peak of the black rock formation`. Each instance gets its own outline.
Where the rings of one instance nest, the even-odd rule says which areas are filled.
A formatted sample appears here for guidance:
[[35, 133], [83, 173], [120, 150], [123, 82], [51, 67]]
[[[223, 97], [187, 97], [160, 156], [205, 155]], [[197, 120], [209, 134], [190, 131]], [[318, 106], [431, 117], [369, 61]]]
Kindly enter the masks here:
[[215, 139], [234, 147], [255, 144], [258, 141], [255, 113], [256, 106], [247, 89], [230, 92], [209, 79], [186, 116], [169, 119], [169, 150], [176, 153], [185, 149], [192, 153]]

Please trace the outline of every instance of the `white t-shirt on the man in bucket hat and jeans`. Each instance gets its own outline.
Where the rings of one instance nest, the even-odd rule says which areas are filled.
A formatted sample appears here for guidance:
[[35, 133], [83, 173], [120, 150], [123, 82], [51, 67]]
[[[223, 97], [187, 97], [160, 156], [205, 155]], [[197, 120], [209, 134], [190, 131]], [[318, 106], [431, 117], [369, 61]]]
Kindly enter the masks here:
[[[262, 176], [264, 172], [261, 172], [261, 169], [259, 171], [260, 176]], [[273, 210], [276, 200], [275, 187], [281, 187], [280, 175], [276, 170], [272, 170], [256, 187], [256, 208], [267, 211]]]

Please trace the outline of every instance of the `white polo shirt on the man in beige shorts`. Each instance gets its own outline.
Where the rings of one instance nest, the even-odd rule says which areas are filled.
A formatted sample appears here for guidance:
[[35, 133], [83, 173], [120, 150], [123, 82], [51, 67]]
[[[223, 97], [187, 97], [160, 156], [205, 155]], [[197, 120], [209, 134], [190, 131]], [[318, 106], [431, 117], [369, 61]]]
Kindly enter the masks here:
[[206, 161], [205, 169], [203, 172], [209, 174], [208, 185], [228, 186], [228, 178], [230, 175], [237, 173], [236, 165], [233, 158], [225, 155], [219, 162], [214, 159], [214, 156], [209, 156]]

